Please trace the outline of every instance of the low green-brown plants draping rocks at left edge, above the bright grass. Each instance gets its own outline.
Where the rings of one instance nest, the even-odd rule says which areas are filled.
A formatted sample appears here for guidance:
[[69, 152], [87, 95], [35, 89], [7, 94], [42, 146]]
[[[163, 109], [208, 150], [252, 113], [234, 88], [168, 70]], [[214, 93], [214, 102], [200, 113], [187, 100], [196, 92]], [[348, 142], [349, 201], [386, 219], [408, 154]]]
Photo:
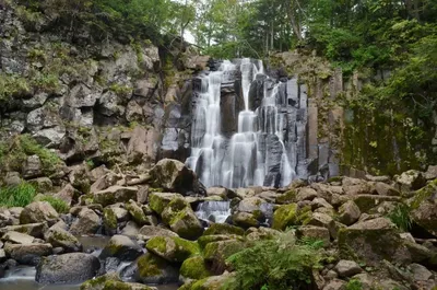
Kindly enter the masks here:
[[29, 135], [19, 135], [0, 142], [0, 169], [21, 172], [29, 155], [39, 156], [45, 174], [55, 173], [61, 164], [56, 153], [38, 144]]

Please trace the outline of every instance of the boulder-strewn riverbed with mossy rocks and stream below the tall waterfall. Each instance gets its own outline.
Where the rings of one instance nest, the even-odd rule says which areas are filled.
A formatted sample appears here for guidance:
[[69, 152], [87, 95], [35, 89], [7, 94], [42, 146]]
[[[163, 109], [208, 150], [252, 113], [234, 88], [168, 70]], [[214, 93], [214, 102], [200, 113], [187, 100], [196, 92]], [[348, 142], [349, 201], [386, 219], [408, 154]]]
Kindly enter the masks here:
[[90, 194], [70, 184], [54, 194], [68, 213], [47, 201], [1, 209], [0, 285], [222, 289], [236, 274], [229, 256], [285, 234], [322, 244], [312, 289], [436, 289], [434, 166], [284, 188], [204, 188], [175, 160], [142, 175], [96, 169], [78, 178], [90, 176]]

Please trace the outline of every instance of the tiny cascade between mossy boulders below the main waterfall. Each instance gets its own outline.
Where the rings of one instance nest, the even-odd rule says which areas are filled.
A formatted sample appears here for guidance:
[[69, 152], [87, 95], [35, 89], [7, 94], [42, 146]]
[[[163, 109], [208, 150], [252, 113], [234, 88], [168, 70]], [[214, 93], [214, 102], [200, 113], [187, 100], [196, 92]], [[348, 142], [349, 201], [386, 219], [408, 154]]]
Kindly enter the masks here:
[[196, 216], [204, 221], [224, 223], [231, 216], [229, 201], [204, 201], [198, 206]]

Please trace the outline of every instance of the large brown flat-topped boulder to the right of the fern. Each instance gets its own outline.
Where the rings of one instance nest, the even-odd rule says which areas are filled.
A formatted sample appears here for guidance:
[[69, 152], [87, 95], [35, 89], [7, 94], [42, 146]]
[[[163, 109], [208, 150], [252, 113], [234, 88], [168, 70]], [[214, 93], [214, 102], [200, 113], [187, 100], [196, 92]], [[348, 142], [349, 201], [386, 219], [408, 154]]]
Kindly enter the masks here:
[[412, 257], [395, 225], [388, 219], [377, 218], [355, 223], [339, 231], [340, 256], [368, 266], [383, 259], [411, 263]]

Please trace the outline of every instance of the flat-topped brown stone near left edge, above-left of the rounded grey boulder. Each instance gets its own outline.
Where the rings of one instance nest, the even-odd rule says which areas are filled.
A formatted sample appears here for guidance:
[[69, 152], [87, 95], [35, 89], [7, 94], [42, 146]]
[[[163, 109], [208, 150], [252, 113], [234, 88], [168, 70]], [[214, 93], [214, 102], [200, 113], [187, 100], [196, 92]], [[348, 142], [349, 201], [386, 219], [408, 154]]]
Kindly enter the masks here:
[[51, 255], [50, 244], [7, 244], [4, 253], [8, 257], [23, 265], [34, 266], [43, 256]]

